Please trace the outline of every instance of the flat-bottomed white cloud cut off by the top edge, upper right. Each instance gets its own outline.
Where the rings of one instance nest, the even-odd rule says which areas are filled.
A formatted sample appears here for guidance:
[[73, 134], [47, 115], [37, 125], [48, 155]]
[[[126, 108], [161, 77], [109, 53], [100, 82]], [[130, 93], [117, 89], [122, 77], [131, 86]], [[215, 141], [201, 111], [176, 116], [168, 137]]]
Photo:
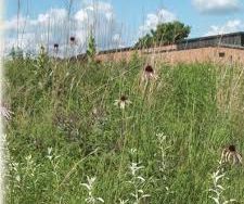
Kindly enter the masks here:
[[193, 0], [195, 8], [202, 13], [229, 13], [240, 9], [240, 0]]

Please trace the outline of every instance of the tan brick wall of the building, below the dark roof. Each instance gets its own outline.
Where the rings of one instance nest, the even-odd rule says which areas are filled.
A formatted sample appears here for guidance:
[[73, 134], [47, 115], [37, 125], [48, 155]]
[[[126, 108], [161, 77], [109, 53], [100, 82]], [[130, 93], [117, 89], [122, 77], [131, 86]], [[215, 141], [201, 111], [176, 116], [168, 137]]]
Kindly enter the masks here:
[[216, 62], [216, 63], [241, 63], [244, 64], [244, 49], [207, 47], [188, 50], [177, 50], [156, 48], [149, 50], [130, 50], [124, 52], [113, 52], [99, 54], [97, 58], [101, 61], [128, 61], [134, 53], [139, 56], [145, 56], [149, 61], [166, 62], [169, 64], [193, 63], [193, 62]]

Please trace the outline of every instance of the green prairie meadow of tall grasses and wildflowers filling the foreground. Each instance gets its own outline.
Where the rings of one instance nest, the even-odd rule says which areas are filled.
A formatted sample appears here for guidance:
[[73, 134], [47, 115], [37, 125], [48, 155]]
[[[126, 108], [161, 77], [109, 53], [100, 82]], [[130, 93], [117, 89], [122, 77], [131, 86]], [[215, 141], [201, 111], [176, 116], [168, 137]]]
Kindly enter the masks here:
[[4, 64], [7, 203], [244, 203], [243, 66]]

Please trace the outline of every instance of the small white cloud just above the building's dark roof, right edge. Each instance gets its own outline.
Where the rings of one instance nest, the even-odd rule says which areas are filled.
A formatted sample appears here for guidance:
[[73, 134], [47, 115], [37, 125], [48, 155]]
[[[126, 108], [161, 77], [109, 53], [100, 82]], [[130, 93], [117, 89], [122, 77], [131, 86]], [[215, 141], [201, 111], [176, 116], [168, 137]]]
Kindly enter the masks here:
[[206, 34], [206, 36], [234, 33], [234, 31], [240, 31], [243, 29], [244, 29], [244, 22], [242, 22], [240, 20], [232, 20], [232, 21], [228, 21], [223, 25], [210, 26], [210, 29]]

